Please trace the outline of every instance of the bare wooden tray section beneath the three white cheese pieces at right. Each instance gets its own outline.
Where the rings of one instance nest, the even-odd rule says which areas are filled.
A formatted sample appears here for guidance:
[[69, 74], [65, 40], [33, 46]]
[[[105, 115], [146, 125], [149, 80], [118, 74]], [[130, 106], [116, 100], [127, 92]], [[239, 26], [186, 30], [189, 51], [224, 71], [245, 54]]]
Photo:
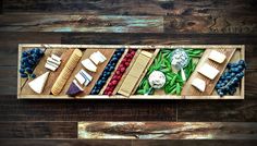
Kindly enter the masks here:
[[[208, 59], [211, 50], [217, 50], [223, 54], [225, 54], [225, 60], [223, 63], [217, 63], [210, 59]], [[189, 95], [194, 95], [194, 96], [209, 96], [212, 94], [215, 86], [217, 84], [217, 82], [219, 81], [220, 76], [222, 75], [223, 71], [227, 68], [227, 64], [230, 62], [231, 58], [233, 57], [234, 52], [235, 52], [236, 48], [232, 48], [232, 49], [225, 49], [225, 48], [218, 48], [218, 49], [206, 49], [204, 54], [201, 56], [195, 71], [192, 73], [191, 77], [188, 78], [188, 81], [186, 81], [185, 85], [183, 86], [182, 96], [189, 96]], [[218, 73], [218, 75], [213, 78], [213, 80], [209, 80], [208, 77], [204, 76], [203, 74], [198, 73], [198, 70], [205, 64], [208, 63], [209, 65], [216, 68], [217, 70], [219, 70], [220, 72]], [[196, 87], [192, 86], [192, 82], [194, 78], [200, 78], [203, 81], [205, 81], [206, 83], [206, 89], [205, 92], [199, 92]]]

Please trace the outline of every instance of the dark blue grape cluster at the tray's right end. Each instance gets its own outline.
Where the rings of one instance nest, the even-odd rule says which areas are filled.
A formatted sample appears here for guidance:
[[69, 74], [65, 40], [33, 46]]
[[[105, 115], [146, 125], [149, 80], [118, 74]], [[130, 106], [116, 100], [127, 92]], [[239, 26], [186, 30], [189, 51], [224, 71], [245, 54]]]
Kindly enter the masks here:
[[240, 86], [241, 80], [244, 77], [244, 70], [246, 68], [245, 61], [240, 60], [236, 63], [229, 63], [225, 71], [216, 85], [216, 90], [219, 96], [227, 94], [234, 95], [236, 87]]

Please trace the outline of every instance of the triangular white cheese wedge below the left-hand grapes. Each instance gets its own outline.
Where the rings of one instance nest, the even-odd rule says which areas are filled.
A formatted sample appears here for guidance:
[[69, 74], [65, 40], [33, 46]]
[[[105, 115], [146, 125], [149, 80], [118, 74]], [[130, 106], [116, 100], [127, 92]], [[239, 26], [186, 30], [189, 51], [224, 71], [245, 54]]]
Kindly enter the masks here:
[[28, 83], [28, 86], [37, 94], [41, 94], [42, 89], [47, 83], [47, 78], [49, 76], [49, 72], [44, 73], [42, 75], [38, 76], [34, 81]]

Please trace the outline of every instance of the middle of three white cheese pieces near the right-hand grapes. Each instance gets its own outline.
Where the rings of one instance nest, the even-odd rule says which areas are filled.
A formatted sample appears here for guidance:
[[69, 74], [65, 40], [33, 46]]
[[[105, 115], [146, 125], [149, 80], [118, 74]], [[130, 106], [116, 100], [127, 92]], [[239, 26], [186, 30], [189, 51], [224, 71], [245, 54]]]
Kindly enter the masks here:
[[205, 75], [206, 77], [213, 80], [217, 74], [220, 72], [219, 70], [217, 70], [216, 68], [209, 65], [208, 63], [205, 63], [199, 70], [198, 72], [203, 75]]

